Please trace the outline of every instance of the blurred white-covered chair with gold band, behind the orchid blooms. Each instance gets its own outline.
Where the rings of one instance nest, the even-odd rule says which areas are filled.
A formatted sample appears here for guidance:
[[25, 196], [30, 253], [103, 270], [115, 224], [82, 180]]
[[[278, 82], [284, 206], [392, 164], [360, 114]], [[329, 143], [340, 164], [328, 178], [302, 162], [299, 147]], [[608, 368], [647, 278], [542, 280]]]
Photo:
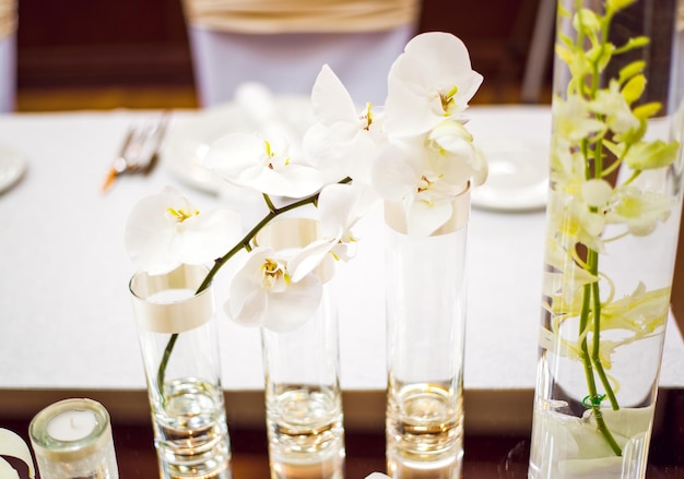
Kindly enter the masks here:
[[203, 107], [245, 81], [308, 95], [323, 63], [357, 103], [382, 105], [420, 0], [182, 0]]

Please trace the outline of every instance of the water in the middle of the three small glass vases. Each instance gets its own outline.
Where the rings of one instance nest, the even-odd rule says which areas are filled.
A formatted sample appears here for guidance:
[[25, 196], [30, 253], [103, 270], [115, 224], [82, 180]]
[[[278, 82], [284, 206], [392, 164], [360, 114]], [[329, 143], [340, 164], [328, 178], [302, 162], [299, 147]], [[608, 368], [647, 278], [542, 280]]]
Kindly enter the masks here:
[[339, 395], [320, 388], [283, 388], [267, 402], [273, 479], [341, 479], [344, 429]]

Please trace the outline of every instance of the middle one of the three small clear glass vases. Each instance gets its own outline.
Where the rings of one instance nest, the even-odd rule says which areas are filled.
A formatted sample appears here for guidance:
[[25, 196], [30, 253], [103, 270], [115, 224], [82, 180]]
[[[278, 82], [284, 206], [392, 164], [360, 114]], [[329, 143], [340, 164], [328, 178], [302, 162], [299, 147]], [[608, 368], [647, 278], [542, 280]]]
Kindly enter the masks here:
[[[281, 219], [257, 240], [281, 252], [298, 249], [317, 239], [317, 225], [306, 218]], [[340, 334], [332, 283], [323, 284], [318, 309], [296, 330], [261, 330], [272, 479], [344, 477]]]

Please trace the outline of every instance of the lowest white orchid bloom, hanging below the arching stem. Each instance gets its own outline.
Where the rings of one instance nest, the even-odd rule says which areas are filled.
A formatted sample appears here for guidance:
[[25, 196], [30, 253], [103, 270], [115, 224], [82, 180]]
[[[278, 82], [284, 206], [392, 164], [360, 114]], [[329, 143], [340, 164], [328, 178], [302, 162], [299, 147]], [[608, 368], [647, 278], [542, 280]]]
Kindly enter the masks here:
[[293, 280], [288, 259], [270, 247], [255, 248], [231, 282], [226, 314], [244, 326], [276, 333], [308, 321], [320, 304], [322, 283], [314, 273]]

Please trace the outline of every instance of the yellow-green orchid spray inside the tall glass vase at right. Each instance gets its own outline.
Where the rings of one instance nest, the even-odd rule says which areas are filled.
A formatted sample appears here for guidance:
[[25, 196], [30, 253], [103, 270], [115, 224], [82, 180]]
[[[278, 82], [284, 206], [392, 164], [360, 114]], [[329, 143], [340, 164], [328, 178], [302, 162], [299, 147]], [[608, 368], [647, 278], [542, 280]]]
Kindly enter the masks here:
[[[543, 346], [580, 361], [586, 376], [583, 407], [614, 455], [622, 448], [602, 407], [620, 409], [620, 383], [610, 374], [613, 352], [623, 345], [659, 334], [668, 314], [670, 289], [640, 282], [618, 298], [615, 278], [601, 270], [601, 259], [625, 237], [646, 237], [674, 207], [665, 194], [639, 183], [647, 171], [665, 170], [680, 155], [677, 141], [652, 140], [648, 120], [662, 105], [642, 98], [647, 79], [641, 60], [622, 61], [648, 45], [646, 36], [622, 45], [611, 41], [617, 13], [637, 0], [606, 0], [602, 12], [582, 8], [570, 17], [573, 35], [559, 32], [557, 58], [569, 69], [567, 91], [554, 97], [551, 156], [552, 191], [544, 282], [551, 314]], [[629, 57], [627, 57], [629, 58]], [[614, 75], [606, 75], [612, 69]], [[600, 79], [609, 76], [606, 83]], [[646, 185], [645, 185], [646, 184]], [[564, 323], [577, 336], [563, 336]], [[609, 332], [618, 332], [609, 335]], [[626, 333], [628, 334], [626, 334]]]

